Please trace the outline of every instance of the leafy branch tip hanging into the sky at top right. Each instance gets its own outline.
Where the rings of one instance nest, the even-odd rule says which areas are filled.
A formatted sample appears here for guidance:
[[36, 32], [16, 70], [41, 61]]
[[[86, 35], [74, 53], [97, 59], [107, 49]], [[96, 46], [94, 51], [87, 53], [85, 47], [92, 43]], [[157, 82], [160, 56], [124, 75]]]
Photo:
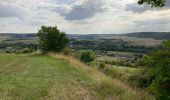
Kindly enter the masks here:
[[138, 3], [140, 5], [143, 3], [147, 3], [151, 5], [151, 7], [163, 7], [165, 6], [166, 0], [139, 0]]

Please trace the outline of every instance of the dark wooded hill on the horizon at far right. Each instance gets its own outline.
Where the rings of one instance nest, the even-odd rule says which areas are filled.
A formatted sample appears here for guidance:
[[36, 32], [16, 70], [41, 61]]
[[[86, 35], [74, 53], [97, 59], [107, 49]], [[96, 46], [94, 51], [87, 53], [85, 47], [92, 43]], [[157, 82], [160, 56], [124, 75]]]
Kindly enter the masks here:
[[170, 32], [136, 32], [124, 34], [128, 37], [137, 37], [137, 38], [154, 38], [157, 40], [170, 39]]

